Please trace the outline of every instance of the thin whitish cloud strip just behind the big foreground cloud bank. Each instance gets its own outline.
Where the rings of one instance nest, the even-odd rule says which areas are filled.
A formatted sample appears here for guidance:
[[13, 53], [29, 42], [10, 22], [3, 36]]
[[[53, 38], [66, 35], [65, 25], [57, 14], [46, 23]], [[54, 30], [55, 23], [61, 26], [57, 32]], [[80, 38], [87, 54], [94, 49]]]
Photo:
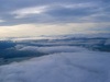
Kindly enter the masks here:
[[32, 51], [36, 51], [36, 52], [38, 51], [38, 52], [44, 52], [44, 54], [87, 51], [87, 49], [85, 49], [82, 47], [73, 47], [73, 46], [37, 47], [37, 46], [16, 45], [15, 49], [32, 50]]

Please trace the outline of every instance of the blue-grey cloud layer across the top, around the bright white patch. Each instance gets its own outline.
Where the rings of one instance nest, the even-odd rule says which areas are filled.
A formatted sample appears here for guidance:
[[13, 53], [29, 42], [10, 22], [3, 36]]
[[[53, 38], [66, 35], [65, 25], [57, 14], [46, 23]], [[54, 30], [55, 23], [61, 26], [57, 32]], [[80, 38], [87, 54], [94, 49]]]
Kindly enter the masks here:
[[[109, 22], [109, 0], [0, 0], [0, 20], [4, 21], [0, 25]], [[20, 19], [15, 19], [18, 14], [11, 14], [18, 10], [43, 5], [47, 5], [47, 8], [40, 14], [28, 14]]]

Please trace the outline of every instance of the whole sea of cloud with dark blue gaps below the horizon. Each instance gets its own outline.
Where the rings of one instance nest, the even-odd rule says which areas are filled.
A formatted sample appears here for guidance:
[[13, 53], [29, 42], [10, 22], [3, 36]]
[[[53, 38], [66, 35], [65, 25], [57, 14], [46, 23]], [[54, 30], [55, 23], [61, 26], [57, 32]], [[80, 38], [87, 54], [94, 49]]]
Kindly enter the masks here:
[[65, 36], [0, 42], [0, 62], [7, 61], [0, 66], [0, 82], [110, 82], [109, 40]]

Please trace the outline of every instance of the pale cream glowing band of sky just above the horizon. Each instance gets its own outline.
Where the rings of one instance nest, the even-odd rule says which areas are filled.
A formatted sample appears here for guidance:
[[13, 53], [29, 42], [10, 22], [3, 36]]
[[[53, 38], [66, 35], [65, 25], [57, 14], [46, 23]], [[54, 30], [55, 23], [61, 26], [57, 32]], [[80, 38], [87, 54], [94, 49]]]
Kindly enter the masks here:
[[[0, 26], [0, 37], [23, 37], [40, 35], [65, 35], [98, 33], [92, 28], [105, 28], [109, 23], [66, 23], [66, 24], [21, 24]], [[106, 31], [99, 31], [106, 32]]]

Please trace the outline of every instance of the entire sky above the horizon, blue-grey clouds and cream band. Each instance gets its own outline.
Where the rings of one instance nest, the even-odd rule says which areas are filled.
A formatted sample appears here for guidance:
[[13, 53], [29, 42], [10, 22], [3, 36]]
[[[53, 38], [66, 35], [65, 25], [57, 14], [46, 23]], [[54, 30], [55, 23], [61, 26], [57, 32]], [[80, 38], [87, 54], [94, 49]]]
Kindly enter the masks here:
[[0, 37], [110, 33], [110, 0], [0, 0]]

